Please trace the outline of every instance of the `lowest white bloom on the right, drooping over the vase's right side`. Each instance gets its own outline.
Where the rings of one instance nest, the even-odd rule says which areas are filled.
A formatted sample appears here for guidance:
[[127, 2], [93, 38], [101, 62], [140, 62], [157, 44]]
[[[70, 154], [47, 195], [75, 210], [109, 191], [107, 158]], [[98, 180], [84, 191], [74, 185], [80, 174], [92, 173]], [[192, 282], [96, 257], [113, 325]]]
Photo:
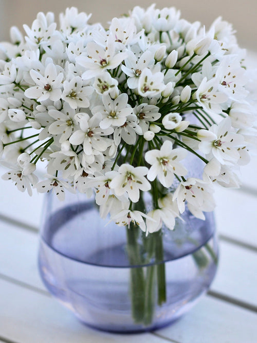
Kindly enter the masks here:
[[185, 211], [185, 202], [187, 202], [189, 211], [196, 218], [205, 220], [203, 211], [213, 211], [215, 207], [211, 186], [210, 183], [194, 177], [181, 181], [173, 195], [173, 201], [177, 201], [179, 212]]

